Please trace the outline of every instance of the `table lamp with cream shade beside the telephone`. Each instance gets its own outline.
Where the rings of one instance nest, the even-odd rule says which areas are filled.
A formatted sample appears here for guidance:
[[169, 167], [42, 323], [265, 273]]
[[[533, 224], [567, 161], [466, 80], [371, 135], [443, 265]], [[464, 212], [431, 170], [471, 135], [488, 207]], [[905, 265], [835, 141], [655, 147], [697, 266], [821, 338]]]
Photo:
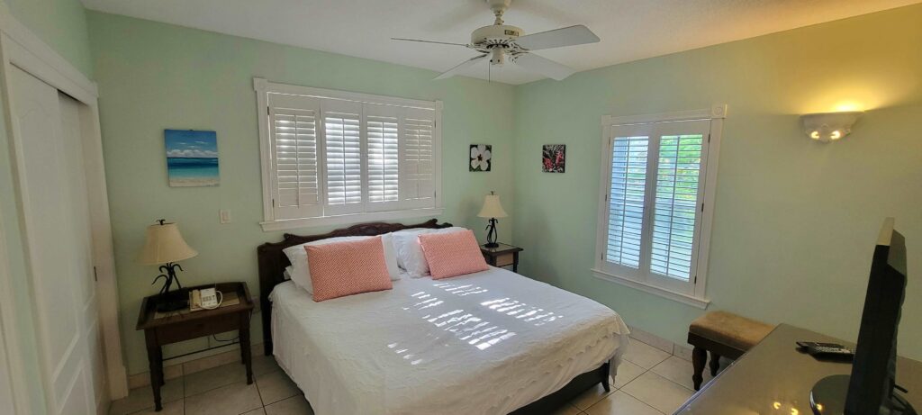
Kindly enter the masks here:
[[[183, 270], [183, 267], [176, 262], [189, 259], [198, 253], [185, 243], [175, 223], [166, 223], [166, 219], [159, 219], [157, 222], [156, 225], [148, 226], [147, 241], [144, 243], [141, 254], [137, 255], [137, 262], [143, 265], [162, 264], [160, 272], [163, 274], [157, 276], [150, 285], [156, 284], [158, 279], [166, 279], [163, 287], [160, 288], [160, 302], [157, 304], [157, 311], [165, 313], [189, 306], [189, 299], [183, 292], [183, 285], [176, 277], [176, 268]], [[177, 289], [171, 291], [174, 282]]]

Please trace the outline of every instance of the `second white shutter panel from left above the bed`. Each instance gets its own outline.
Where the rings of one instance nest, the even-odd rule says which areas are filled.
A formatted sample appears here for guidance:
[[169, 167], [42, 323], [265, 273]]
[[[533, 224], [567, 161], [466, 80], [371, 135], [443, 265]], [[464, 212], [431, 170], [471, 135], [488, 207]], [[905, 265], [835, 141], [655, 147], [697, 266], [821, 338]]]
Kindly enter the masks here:
[[324, 177], [325, 215], [361, 212], [362, 137], [361, 102], [325, 100]]

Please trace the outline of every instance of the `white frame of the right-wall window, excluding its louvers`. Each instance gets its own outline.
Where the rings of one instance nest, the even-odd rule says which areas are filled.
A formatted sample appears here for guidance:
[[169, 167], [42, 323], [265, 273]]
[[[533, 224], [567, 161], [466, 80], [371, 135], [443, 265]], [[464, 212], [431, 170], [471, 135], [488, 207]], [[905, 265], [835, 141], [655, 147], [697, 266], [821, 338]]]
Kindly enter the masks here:
[[[632, 287], [637, 290], [643, 290], [660, 297], [667, 298], [676, 302], [682, 302], [698, 308], [706, 308], [710, 300], [705, 296], [705, 287], [707, 284], [707, 265], [711, 244], [711, 227], [714, 220], [714, 205], [716, 196], [717, 183], [717, 161], [720, 155], [721, 133], [723, 131], [723, 122], [727, 117], [727, 105], [717, 104], [711, 108], [694, 111], [683, 111], [676, 113], [655, 113], [645, 115], [631, 116], [611, 116], [602, 117], [602, 163], [599, 173], [599, 196], [598, 196], [598, 215], [597, 215], [597, 239], [596, 239], [596, 259], [592, 268], [593, 275], [598, 279], [615, 282], [621, 285]], [[695, 235], [697, 252], [692, 258], [694, 264], [691, 269], [691, 283], [680, 283], [683, 287], [678, 287], [674, 283], [657, 282], [656, 278], [650, 278], [647, 275], [640, 275], [637, 272], [624, 272], [621, 270], [611, 269], [610, 263], [605, 260], [607, 251], [607, 235], [609, 228], [609, 188], [611, 183], [611, 148], [609, 147], [613, 137], [613, 129], [617, 127], [632, 127], [637, 129], [653, 128], [653, 125], [680, 122], [680, 121], [708, 121], [710, 128], [708, 135], [710, 137], [707, 143], [706, 156], [703, 160], [704, 175], [701, 177], [699, 197], [702, 203], [702, 213], [699, 219]], [[656, 143], [656, 153], [658, 154], [658, 141]], [[650, 152], [653, 152], [651, 148]], [[655, 163], [647, 165], [648, 172], [656, 167]], [[656, 180], [656, 172], [649, 175], [647, 180]], [[656, 192], [656, 186], [654, 186]], [[651, 195], [647, 195], [652, 197]], [[645, 213], [646, 214], [646, 213]], [[652, 211], [650, 212], [652, 214]], [[651, 218], [652, 219], [652, 218]], [[649, 219], [645, 219], [649, 220]], [[648, 225], [652, 230], [652, 223]], [[643, 243], [649, 243], [650, 236], [644, 234]], [[642, 258], [643, 261], [644, 258]], [[607, 264], [609, 266], [607, 267]], [[643, 263], [641, 264], [643, 267]], [[625, 267], [626, 268], [626, 267]], [[656, 276], [654, 276], [656, 277]], [[664, 278], [665, 279], [665, 278]]]

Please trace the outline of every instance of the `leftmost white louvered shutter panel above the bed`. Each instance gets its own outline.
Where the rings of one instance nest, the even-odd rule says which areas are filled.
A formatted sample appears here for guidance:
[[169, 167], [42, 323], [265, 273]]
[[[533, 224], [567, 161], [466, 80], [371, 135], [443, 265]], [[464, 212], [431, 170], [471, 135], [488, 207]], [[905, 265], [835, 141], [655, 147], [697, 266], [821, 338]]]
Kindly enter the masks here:
[[323, 213], [317, 160], [320, 101], [269, 94], [271, 192], [277, 219]]

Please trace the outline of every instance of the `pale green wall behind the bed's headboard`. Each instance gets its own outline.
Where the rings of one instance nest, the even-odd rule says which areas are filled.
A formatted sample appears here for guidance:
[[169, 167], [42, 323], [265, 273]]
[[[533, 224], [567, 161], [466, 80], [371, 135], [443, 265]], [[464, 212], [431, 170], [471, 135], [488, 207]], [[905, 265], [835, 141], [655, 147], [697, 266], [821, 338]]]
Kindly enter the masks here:
[[[185, 240], [199, 252], [183, 261], [183, 284], [242, 280], [254, 295], [256, 246], [281, 240], [281, 232], [264, 232], [258, 224], [263, 207], [253, 77], [442, 100], [445, 214], [440, 219], [470, 227], [482, 237], [485, 223], [476, 215], [483, 196], [495, 190], [512, 206], [514, 89], [509, 85], [463, 77], [433, 82], [437, 74], [428, 70], [135, 18], [96, 12], [88, 16], [130, 374], [148, 367], [135, 321], [141, 299], [157, 290], [150, 281], [158, 272], [134, 262], [148, 224], [176, 220]], [[219, 187], [168, 187], [164, 128], [218, 132]], [[492, 172], [467, 172], [467, 146], [472, 143], [493, 145]], [[222, 208], [231, 210], [232, 223], [219, 224]], [[502, 240], [510, 239], [510, 225], [501, 224]], [[254, 338], [261, 341], [259, 317], [254, 317]], [[167, 352], [205, 345], [199, 340]]]

